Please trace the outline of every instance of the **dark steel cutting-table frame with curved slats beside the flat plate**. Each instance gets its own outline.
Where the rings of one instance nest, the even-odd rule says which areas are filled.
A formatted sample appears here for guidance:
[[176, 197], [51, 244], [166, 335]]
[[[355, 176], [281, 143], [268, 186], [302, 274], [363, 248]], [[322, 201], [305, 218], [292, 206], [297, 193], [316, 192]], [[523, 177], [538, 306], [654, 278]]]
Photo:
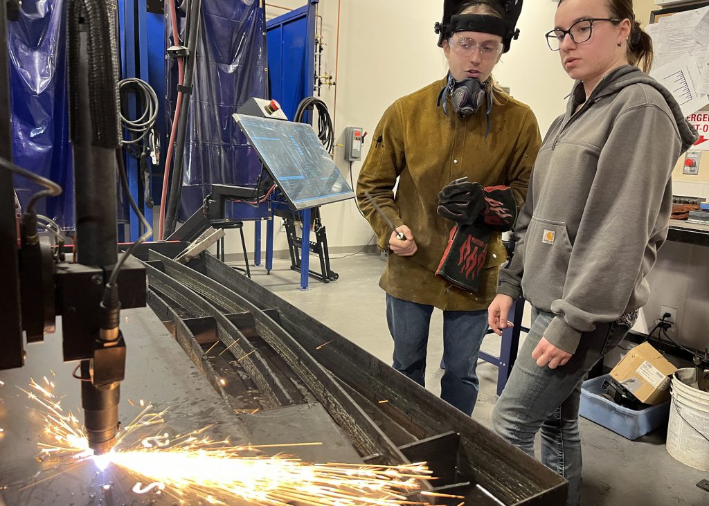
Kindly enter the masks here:
[[[155, 252], [150, 258], [150, 305], [162, 320], [170, 320], [167, 325], [183, 347], [192, 342], [188, 354], [208, 376], [238, 383], [218, 361], [205, 360], [205, 355], [230, 352], [232, 341], [210, 330], [220, 327], [210, 317], [186, 309], [198, 304], [195, 297], [228, 315], [248, 336], [257, 348], [248, 358], [281, 357], [281, 368], [272, 370], [291, 375], [281, 384], [305, 386], [365, 462], [427, 461], [437, 476], [432, 490], [463, 495], [466, 504], [564, 504], [564, 478], [218, 259], [202, 254], [184, 266]], [[172, 292], [165, 295], [169, 283]], [[205, 354], [205, 348], [214, 351]], [[218, 381], [211, 383], [230, 396]], [[254, 416], [281, 409], [286, 407], [258, 410]], [[246, 416], [251, 415], [240, 415]], [[459, 502], [440, 499], [437, 504]]]

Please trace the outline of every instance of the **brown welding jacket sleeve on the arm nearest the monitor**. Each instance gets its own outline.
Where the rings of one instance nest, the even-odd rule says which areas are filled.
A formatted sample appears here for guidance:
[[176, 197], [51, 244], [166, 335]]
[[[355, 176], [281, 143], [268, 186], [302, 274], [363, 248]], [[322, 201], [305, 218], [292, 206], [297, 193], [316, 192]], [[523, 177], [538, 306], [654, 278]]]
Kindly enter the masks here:
[[384, 112], [372, 136], [372, 146], [357, 179], [357, 204], [376, 233], [379, 248], [389, 247], [389, 225], [364, 196], [368, 192], [395, 227], [403, 225], [394, 203], [396, 178], [406, 167], [403, 142], [403, 119], [398, 102]]

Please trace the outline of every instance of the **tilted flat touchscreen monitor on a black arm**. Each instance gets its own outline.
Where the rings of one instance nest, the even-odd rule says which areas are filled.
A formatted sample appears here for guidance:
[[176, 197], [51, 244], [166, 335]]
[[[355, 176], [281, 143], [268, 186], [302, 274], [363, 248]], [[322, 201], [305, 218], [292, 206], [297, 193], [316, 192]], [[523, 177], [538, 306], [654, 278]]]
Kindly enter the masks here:
[[244, 114], [234, 119], [296, 210], [354, 197], [311, 125]]

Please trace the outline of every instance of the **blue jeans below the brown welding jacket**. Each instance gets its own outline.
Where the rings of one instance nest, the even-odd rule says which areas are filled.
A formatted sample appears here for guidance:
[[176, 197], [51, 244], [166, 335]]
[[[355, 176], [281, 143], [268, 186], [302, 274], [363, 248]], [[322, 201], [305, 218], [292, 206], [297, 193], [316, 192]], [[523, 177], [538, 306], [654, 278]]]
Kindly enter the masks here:
[[[386, 296], [386, 322], [394, 340], [393, 368], [425, 386], [428, 329], [432, 305]], [[487, 311], [443, 312], [441, 398], [471, 415], [480, 390], [475, 373], [480, 344], [488, 329]]]

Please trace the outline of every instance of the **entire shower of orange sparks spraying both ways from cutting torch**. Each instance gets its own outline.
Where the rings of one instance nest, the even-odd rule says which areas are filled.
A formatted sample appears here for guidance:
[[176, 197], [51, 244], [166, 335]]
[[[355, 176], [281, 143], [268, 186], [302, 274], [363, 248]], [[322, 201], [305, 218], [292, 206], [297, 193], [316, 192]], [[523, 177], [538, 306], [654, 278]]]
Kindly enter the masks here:
[[[305, 463], [283, 454], [267, 456], [262, 451], [322, 443], [235, 446], [228, 439], [214, 441], [207, 437], [211, 426], [172, 437], [164, 429], [166, 411], [151, 412], [152, 405], [145, 405], [143, 400], [143, 410], [119, 432], [115, 449], [94, 456], [82, 423], [71, 411], [63, 410], [62, 399], [53, 393], [54, 383], [43, 380], [43, 384], [31, 380], [28, 390], [21, 388], [35, 405], [40, 405], [45, 421], [38, 459], [72, 459], [79, 464], [93, 461], [99, 469], [113, 464], [136, 477], [134, 493], [164, 492], [188, 504], [189, 499], [197, 498], [214, 505], [235, 501], [262, 506], [294, 502], [304, 506], [430, 504], [410, 498], [430, 495], [422, 490], [423, 483], [433, 479], [425, 463]], [[145, 428], [152, 425], [159, 426], [157, 432], [145, 437]]]

